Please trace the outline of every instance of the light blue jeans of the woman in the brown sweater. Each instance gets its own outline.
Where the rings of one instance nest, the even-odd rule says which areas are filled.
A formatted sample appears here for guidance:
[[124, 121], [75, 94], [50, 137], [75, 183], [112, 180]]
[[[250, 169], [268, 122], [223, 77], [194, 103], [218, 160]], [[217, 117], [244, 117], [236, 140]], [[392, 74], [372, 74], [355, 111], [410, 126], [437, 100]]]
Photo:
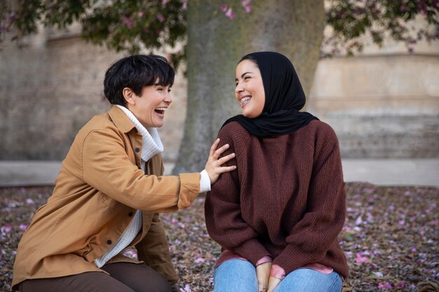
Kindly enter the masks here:
[[[323, 274], [297, 269], [288, 274], [274, 292], [340, 292], [342, 277], [337, 272]], [[214, 292], [258, 292], [256, 268], [246, 260], [226, 260], [213, 273]]]

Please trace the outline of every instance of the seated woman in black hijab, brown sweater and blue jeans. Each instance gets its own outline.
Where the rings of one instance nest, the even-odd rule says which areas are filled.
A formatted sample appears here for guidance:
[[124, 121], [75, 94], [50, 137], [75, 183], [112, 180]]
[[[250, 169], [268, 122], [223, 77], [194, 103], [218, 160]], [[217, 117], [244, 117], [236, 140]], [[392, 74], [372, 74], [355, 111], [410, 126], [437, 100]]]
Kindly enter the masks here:
[[242, 115], [218, 136], [237, 169], [205, 202], [209, 235], [222, 246], [214, 291], [342, 291], [346, 199], [335, 132], [299, 111], [302, 85], [279, 53], [245, 55], [235, 95]]

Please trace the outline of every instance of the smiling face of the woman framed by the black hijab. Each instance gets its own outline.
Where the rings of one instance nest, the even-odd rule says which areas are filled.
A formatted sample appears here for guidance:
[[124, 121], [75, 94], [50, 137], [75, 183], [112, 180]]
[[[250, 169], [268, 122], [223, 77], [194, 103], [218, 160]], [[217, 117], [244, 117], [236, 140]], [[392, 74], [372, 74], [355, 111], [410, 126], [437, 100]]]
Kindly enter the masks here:
[[264, 83], [257, 64], [251, 60], [239, 62], [235, 81], [235, 96], [241, 104], [243, 116], [256, 118], [262, 113], [265, 104]]

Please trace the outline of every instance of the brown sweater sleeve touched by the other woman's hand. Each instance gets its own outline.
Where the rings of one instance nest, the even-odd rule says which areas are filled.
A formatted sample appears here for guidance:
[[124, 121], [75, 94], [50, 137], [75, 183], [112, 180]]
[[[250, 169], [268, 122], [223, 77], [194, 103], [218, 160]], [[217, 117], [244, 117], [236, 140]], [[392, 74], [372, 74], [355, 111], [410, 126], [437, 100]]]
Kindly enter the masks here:
[[236, 165], [236, 170], [222, 174], [218, 181], [212, 185], [212, 190], [205, 200], [205, 223], [210, 237], [215, 242], [256, 265], [257, 260], [264, 256], [270, 256], [270, 254], [259, 243], [257, 232], [241, 216], [238, 173], [240, 170], [239, 158], [242, 155], [240, 150], [245, 145], [245, 141], [232, 139], [227, 131], [229, 128], [224, 127], [219, 131], [218, 136], [222, 145], [230, 145], [230, 148], [223, 155], [236, 153], [236, 158], [226, 163], [228, 166]]

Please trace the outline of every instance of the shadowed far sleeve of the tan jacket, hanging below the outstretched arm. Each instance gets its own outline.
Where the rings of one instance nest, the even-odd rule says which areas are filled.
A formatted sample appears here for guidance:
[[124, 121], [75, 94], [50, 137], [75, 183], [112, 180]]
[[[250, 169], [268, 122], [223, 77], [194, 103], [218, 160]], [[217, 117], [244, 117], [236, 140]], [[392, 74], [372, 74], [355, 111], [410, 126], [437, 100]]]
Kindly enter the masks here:
[[165, 228], [158, 214], [154, 214], [147, 235], [135, 246], [137, 257], [165, 277], [170, 284], [178, 281], [171, 261]]

